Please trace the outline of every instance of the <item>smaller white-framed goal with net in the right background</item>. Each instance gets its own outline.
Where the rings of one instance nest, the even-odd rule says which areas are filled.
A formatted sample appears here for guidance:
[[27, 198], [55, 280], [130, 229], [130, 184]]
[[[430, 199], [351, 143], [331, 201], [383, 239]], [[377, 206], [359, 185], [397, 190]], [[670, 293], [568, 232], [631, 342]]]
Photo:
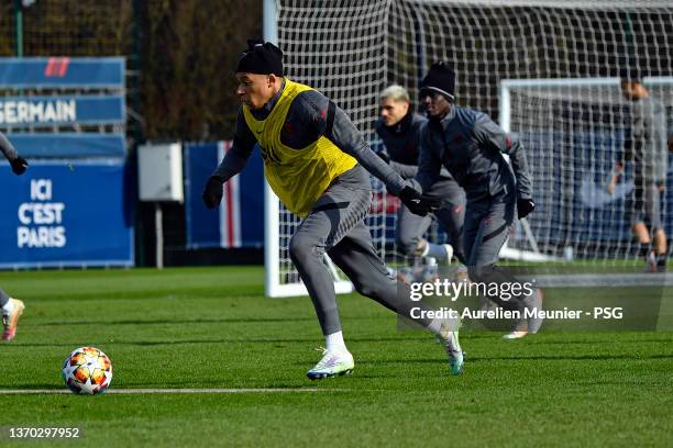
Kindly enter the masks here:
[[[671, 115], [673, 77], [642, 81], [664, 115]], [[532, 242], [536, 249], [556, 258], [640, 262], [649, 245], [633, 239], [631, 225], [648, 221], [636, 200], [641, 187], [633, 181], [642, 164], [625, 154], [626, 141], [632, 138], [632, 101], [621, 92], [620, 79], [504, 80], [500, 100], [500, 124], [527, 148], [539, 205], [528, 220], [533, 237], [516, 238], [516, 246], [530, 250]], [[659, 136], [650, 138], [662, 144], [646, 160], [662, 165], [662, 170], [669, 159], [665, 121], [666, 116], [654, 121]], [[622, 158], [625, 172], [609, 191], [615, 165]], [[664, 227], [672, 219], [666, 202], [659, 204]]]

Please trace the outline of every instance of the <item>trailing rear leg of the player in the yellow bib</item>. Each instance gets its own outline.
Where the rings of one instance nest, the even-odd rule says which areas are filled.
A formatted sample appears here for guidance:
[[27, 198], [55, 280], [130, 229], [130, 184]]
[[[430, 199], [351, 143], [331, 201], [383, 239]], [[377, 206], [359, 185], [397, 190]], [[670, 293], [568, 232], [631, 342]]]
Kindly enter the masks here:
[[[353, 227], [334, 247], [329, 250], [330, 258], [343, 270], [362, 295], [371, 298], [400, 316], [411, 318], [411, 311], [430, 311], [422, 302], [411, 301], [407, 283], [395, 281], [386, 270], [385, 264], [376, 254], [369, 229], [362, 221]], [[440, 336], [449, 356], [453, 374], [463, 369], [463, 352], [459, 343], [459, 320], [412, 318], [413, 322]]]

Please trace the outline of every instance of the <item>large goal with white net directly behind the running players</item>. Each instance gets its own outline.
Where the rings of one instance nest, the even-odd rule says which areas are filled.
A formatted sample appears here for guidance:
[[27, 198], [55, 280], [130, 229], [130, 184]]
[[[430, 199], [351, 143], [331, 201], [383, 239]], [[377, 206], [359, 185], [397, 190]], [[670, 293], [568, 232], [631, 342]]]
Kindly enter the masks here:
[[[563, 188], [570, 190], [582, 186], [577, 179], [595, 176], [594, 192], [600, 195], [597, 186], [606, 181], [608, 167], [622, 150], [624, 101], [614, 83], [620, 69], [637, 68], [652, 79], [672, 75], [670, 2], [267, 0], [265, 20], [273, 22], [266, 38], [277, 41], [285, 52], [288, 76], [332, 99], [373, 143], [378, 93], [399, 83], [417, 99], [419, 81], [435, 60], [445, 60], [456, 70], [459, 105], [481, 110], [494, 120], [504, 116], [500, 88], [505, 80], [585, 79], [591, 86], [592, 80], [613, 78], [611, 87], [569, 86], [566, 99], [559, 96], [563, 89], [536, 87], [538, 93], [531, 94], [530, 87], [510, 85], [508, 131], [527, 147], [539, 211], [528, 225], [517, 224], [508, 253], [523, 249], [541, 259], [572, 255], [608, 261], [636, 255], [625, 221], [626, 201], [582, 209], [582, 190], [569, 198], [554, 179], [561, 171]], [[663, 82], [653, 94], [671, 107], [671, 90]], [[606, 90], [609, 97], [604, 96]], [[564, 109], [565, 115], [553, 113], [554, 108]], [[581, 147], [576, 146], [580, 141]], [[562, 150], [573, 152], [572, 164]], [[368, 223], [377, 249], [389, 261], [396, 255], [398, 203], [377, 181], [373, 186]], [[619, 188], [626, 186], [628, 179]], [[275, 199], [271, 197], [269, 202]], [[277, 229], [279, 243], [275, 247], [267, 243], [267, 276], [269, 262], [275, 269], [267, 287], [298, 280], [286, 250], [298, 221], [282, 205], [273, 206], [277, 213], [267, 224]], [[581, 219], [584, 227], [577, 225]], [[443, 237], [441, 232], [435, 234]]]

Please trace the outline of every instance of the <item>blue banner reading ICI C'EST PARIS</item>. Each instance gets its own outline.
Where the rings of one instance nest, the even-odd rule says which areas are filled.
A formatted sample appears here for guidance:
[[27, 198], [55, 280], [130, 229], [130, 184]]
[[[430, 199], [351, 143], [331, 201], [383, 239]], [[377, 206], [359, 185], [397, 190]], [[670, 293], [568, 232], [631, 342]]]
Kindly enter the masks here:
[[133, 190], [119, 159], [0, 164], [0, 268], [133, 266]]

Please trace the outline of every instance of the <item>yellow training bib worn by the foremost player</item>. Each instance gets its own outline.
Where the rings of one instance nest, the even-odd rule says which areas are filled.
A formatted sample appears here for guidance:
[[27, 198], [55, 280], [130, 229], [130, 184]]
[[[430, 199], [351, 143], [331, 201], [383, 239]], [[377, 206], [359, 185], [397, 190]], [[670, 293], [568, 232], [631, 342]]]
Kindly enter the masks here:
[[[245, 123], [260, 142], [264, 176], [280, 202], [299, 216], [306, 216], [332, 180], [357, 165], [324, 136], [302, 149], [280, 143], [280, 131], [295, 98], [308, 86], [285, 78], [285, 88], [266, 120], [255, 120], [243, 105]], [[301, 132], [301, 130], [297, 130]]]

